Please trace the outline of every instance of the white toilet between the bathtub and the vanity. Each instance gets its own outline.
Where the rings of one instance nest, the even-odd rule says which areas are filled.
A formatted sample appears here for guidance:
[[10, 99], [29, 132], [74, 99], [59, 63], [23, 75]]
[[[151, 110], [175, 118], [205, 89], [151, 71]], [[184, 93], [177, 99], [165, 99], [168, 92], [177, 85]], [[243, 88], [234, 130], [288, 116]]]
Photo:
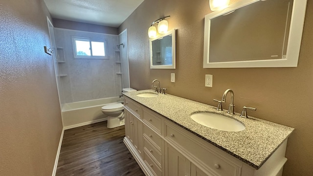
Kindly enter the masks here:
[[[134, 88], [123, 88], [123, 92], [137, 91]], [[114, 103], [105, 105], [101, 108], [102, 112], [108, 116], [108, 128], [115, 128], [125, 125], [124, 105], [122, 103]]]

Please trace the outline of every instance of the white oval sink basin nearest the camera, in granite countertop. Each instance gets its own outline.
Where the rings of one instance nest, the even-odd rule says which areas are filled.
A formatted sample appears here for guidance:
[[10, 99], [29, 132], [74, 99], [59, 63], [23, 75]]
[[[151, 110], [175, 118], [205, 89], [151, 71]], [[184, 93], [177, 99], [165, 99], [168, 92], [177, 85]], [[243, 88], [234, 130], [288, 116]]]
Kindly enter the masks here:
[[216, 130], [239, 132], [246, 129], [246, 127], [242, 123], [238, 122], [235, 119], [210, 112], [197, 112], [191, 114], [190, 118], [201, 125]]

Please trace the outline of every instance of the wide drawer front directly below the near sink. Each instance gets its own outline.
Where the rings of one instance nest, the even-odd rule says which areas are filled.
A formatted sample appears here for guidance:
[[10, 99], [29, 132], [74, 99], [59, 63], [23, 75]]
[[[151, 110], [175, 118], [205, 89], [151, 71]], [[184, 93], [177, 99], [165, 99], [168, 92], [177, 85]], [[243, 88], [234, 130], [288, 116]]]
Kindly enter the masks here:
[[[186, 154], [191, 154], [198, 159], [205, 169], [219, 176], [239, 176], [241, 166], [227, 160], [222, 155], [210, 150], [206, 145], [197, 142], [190, 136], [186, 135], [186, 130], [165, 123], [165, 138], [177, 145]], [[202, 139], [201, 139], [202, 140]], [[211, 145], [207, 143], [208, 145]], [[211, 146], [212, 147], [212, 146]]]

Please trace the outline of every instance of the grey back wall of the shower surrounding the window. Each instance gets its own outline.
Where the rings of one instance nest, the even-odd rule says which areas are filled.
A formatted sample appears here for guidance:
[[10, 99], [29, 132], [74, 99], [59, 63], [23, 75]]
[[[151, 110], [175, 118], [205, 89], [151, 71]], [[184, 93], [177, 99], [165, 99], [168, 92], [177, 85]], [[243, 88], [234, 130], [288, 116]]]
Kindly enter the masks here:
[[[72, 37], [106, 40], [109, 59], [74, 59]], [[122, 75], [116, 73], [122, 71], [115, 62], [118, 35], [55, 28], [55, 39], [58, 60], [64, 58], [64, 62], [58, 64], [62, 104], [120, 95]]]

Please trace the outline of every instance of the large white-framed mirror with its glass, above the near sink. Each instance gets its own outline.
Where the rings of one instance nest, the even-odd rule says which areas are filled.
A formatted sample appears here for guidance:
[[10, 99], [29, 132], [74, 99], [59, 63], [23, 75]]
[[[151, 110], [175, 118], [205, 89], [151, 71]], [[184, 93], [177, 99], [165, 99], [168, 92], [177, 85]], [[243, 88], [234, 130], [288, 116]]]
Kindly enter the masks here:
[[241, 0], [205, 16], [203, 68], [296, 67], [307, 0]]

